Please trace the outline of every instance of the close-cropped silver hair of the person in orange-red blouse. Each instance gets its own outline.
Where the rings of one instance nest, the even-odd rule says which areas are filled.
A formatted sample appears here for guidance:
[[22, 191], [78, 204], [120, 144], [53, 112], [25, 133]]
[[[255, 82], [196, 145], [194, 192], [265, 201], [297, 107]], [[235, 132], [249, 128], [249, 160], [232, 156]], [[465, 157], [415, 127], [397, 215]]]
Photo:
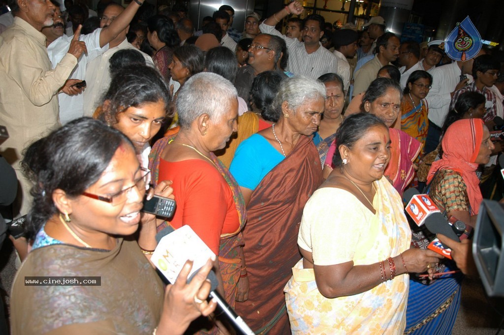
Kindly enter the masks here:
[[220, 120], [237, 95], [233, 84], [222, 76], [211, 72], [192, 76], [180, 88], [175, 101], [180, 128], [190, 128], [193, 121], [205, 113], [211, 120]]

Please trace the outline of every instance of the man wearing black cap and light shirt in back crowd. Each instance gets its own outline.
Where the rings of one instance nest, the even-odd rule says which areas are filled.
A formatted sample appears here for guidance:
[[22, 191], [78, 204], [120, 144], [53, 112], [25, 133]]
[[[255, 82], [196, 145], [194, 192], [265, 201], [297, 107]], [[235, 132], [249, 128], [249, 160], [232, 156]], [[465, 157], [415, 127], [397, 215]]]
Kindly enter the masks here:
[[337, 30], [333, 34], [334, 55], [338, 58], [338, 75], [343, 79], [345, 92], [350, 86], [350, 64], [347, 58], [352, 58], [357, 52], [359, 34], [352, 29]]

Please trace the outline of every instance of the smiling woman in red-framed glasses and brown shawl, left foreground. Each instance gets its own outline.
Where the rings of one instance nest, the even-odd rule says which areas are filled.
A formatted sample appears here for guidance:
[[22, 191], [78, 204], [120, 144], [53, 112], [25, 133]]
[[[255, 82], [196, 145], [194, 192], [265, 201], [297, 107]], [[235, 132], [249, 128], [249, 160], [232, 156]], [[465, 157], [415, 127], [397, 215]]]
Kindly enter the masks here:
[[[206, 302], [211, 260], [190, 284], [186, 262], [165, 293], [131, 239], [148, 170], [121, 132], [74, 120], [28, 147], [23, 166], [34, 179], [34, 243], [12, 290], [13, 334], [182, 334], [214, 310]], [[26, 281], [33, 276], [39, 285]]]

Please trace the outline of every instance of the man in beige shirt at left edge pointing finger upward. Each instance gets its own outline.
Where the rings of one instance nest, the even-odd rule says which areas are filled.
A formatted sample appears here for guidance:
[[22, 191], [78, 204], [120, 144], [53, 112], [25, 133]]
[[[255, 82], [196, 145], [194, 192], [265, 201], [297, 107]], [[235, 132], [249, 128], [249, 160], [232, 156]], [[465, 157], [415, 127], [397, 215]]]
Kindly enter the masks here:
[[52, 69], [40, 31], [53, 24], [54, 5], [50, 1], [13, 0], [9, 7], [15, 18], [0, 36], [0, 124], [7, 127], [10, 138], [0, 152], [17, 170], [21, 183], [17, 202], [21, 207], [14, 213], [17, 216], [18, 210], [20, 215], [27, 214], [31, 203], [32, 185], [19, 165], [21, 152], [59, 125], [56, 94], [81, 92], [72, 87], [78, 80], [67, 79], [86, 51], [86, 44], [76, 34], [65, 56]]

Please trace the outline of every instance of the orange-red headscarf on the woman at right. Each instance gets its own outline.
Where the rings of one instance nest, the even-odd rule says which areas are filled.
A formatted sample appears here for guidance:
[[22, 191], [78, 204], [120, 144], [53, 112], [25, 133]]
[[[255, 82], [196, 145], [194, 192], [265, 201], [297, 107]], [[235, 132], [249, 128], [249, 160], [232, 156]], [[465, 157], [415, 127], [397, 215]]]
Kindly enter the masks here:
[[439, 169], [459, 172], [466, 183], [473, 215], [478, 214], [483, 200], [475, 173], [478, 164], [474, 162], [483, 141], [483, 125], [482, 119], [462, 119], [449, 126], [442, 142], [443, 157], [432, 163], [427, 176], [427, 183], [430, 183]]

